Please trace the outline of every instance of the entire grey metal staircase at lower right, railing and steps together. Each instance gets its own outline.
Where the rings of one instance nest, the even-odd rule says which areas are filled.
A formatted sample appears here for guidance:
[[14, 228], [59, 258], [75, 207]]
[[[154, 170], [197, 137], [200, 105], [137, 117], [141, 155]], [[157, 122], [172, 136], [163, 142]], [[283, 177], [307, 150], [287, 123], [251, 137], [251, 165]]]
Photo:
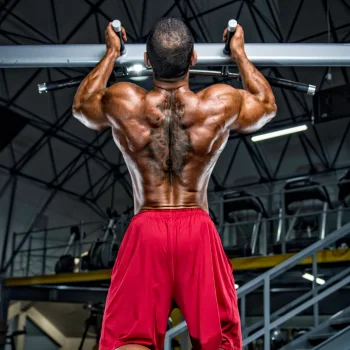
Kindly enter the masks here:
[[[292, 300], [279, 310], [271, 313], [271, 283], [273, 280], [291, 270], [297, 264], [308, 257], [312, 257], [312, 275], [318, 276], [317, 253], [327, 249], [338, 240], [350, 234], [350, 223], [342, 226], [338, 230], [328, 234], [325, 238], [318, 240], [309, 247], [303, 249], [291, 258], [283, 261], [274, 268], [262, 273], [258, 277], [244, 284], [237, 290], [237, 296], [240, 300], [240, 315], [243, 333], [243, 347], [252, 344], [259, 338], [264, 339], [264, 350], [271, 349], [270, 333], [276, 327], [283, 325], [286, 321], [299, 315], [305, 310], [313, 307], [313, 317], [315, 324], [318, 324], [319, 309], [318, 304], [331, 294], [339, 291], [350, 284], [350, 267], [329, 278], [325, 284], [317, 285], [316, 278], [312, 282], [312, 288], [308, 292]], [[246, 297], [250, 293], [263, 287], [264, 314], [263, 319], [250, 327], [246, 326]], [[350, 304], [350, 293], [349, 293]], [[186, 322], [182, 322], [174, 328], [171, 328], [165, 337], [164, 349], [171, 349], [171, 339], [187, 331]], [[312, 331], [306, 333], [290, 342], [283, 350], [350, 350], [350, 307], [337, 313], [328, 321], [317, 325]]]

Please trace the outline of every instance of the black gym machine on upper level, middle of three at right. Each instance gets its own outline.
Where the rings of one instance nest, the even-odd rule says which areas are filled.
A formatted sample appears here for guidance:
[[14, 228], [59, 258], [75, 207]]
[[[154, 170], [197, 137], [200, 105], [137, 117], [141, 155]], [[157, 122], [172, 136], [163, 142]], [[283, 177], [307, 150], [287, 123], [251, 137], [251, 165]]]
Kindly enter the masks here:
[[[332, 209], [332, 203], [327, 189], [318, 182], [311, 181], [308, 177], [301, 177], [286, 182], [284, 187], [284, 208], [285, 214], [291, 216], [288, 230], [285, 234], [286, 251], [288, 253], [298, 252], [318, 239], [326, 235], [327, 210]], [[321, 204], [321, 223], [319, 210]], [[316, 209], [315, 209], [316, 207]], [[307, 214], [308, 212], [311, 214]], [[283, 214], [280, 215], [280, 227], [282, 220], [286, 222]], [[282, 238], [281, 230], [277, 234], [276, 243], [273, 245], [273, 252], [281, 254]], [[293, 237], [292, 237], [293, 236]]]

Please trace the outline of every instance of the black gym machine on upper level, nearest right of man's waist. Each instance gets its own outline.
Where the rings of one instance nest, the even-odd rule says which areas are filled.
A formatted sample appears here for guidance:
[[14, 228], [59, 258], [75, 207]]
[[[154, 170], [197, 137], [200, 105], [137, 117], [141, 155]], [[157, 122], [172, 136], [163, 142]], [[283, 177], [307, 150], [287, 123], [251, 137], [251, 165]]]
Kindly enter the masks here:
[[[261, 231], [261, 224], [263, 218], [268, 218], [261, 200], [245, 191], [226, 193], [224, 195], [224, 200], [228, 199], [230, 200], [229, 202], [224, 202], [224, 221], [226, 223], [238, 223], [238, 225], [235, 225], [235, 227], [236, 230], [240, 230], [241, 227], [239, 225], [238, 215], [242, 211], [249, 211], [250, 213], [253, 212], [256, 216], [256, 221], [250, 234], [251, 238], [249, 244], [239, 240], [237, 231], [235, 233], [230, 232], [230, 234], [235, 234], [236, 242], [234, 242], [231, 247], [224, 248], [226, 255], [233, 258], [259, 254], [258, 241], [259, 233]], [[247, 237], [247, 232], [243, 233], [244, 237]], [[266, 250], [266, 242], [264, 243]]]

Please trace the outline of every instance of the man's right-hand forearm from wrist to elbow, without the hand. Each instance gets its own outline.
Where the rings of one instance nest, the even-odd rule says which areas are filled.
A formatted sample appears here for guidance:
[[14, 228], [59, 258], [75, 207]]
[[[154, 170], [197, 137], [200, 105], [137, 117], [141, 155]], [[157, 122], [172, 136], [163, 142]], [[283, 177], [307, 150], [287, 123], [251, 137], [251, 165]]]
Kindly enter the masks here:
[[255, 95], [266, 107], [275, 107], [275, 97], [265, 77], [249, 61], [246, 53], [241, 51], [232, 55], [236, 61], [244, 89]]

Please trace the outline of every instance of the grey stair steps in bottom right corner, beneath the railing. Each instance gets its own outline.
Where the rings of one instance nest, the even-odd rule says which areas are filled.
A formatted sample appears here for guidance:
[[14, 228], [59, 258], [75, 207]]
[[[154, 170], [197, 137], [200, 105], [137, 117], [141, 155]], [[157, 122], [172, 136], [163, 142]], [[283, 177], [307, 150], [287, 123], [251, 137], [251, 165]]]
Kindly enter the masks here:
[[296, 338], [280, 350], [306, 349], [350, 349], [350, 307], [338, 312], [318, 327]]

